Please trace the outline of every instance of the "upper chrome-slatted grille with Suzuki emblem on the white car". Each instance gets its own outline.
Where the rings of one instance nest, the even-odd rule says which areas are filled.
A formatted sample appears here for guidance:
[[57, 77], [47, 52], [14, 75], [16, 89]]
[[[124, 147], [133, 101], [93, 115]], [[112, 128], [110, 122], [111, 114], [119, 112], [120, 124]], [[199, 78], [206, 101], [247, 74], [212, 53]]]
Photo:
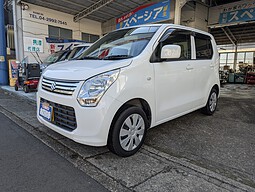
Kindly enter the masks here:
[[62, 95], [72, 95], [79, 81], [61, 81], [43, 78], [42, 89]]

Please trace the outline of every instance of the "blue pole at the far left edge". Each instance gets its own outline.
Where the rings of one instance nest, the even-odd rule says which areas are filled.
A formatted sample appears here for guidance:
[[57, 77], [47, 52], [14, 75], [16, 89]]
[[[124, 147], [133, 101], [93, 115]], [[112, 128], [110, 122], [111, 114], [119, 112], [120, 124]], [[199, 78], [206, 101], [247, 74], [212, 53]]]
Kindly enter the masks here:
[[6, 61], [4, 0], [0, 0], [0, 85], [7, 84], [8, 84], [8, 66]]

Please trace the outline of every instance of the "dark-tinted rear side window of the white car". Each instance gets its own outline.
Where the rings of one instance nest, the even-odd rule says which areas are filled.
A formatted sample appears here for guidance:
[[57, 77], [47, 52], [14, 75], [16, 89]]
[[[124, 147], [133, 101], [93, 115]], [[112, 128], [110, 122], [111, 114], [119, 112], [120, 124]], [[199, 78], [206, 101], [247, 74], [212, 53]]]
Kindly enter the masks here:
[[213, 56], [213, 48], [211, 38], [206, 35], [196, 34], [196, 58], [197, 59], [211, 59]]

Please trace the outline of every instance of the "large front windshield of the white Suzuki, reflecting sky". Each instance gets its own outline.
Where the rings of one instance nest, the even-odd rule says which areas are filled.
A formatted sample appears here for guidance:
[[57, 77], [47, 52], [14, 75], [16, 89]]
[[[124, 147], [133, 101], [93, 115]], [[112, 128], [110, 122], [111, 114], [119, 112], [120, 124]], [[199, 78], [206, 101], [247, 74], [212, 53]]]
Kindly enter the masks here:
[[139, 55], [159, 27], [142, 26], [113, 31], [91, 47], [78, 59], [126, 59]]

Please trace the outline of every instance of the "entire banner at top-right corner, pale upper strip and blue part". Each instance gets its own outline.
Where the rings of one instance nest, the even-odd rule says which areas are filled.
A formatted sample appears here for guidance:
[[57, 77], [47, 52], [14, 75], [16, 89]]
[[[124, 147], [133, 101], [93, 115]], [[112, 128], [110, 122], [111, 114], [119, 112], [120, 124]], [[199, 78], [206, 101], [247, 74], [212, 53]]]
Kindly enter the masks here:
[[255, 20], [255, 1], [224, 7], [219, 18], [219, 24], [238, 23]]

